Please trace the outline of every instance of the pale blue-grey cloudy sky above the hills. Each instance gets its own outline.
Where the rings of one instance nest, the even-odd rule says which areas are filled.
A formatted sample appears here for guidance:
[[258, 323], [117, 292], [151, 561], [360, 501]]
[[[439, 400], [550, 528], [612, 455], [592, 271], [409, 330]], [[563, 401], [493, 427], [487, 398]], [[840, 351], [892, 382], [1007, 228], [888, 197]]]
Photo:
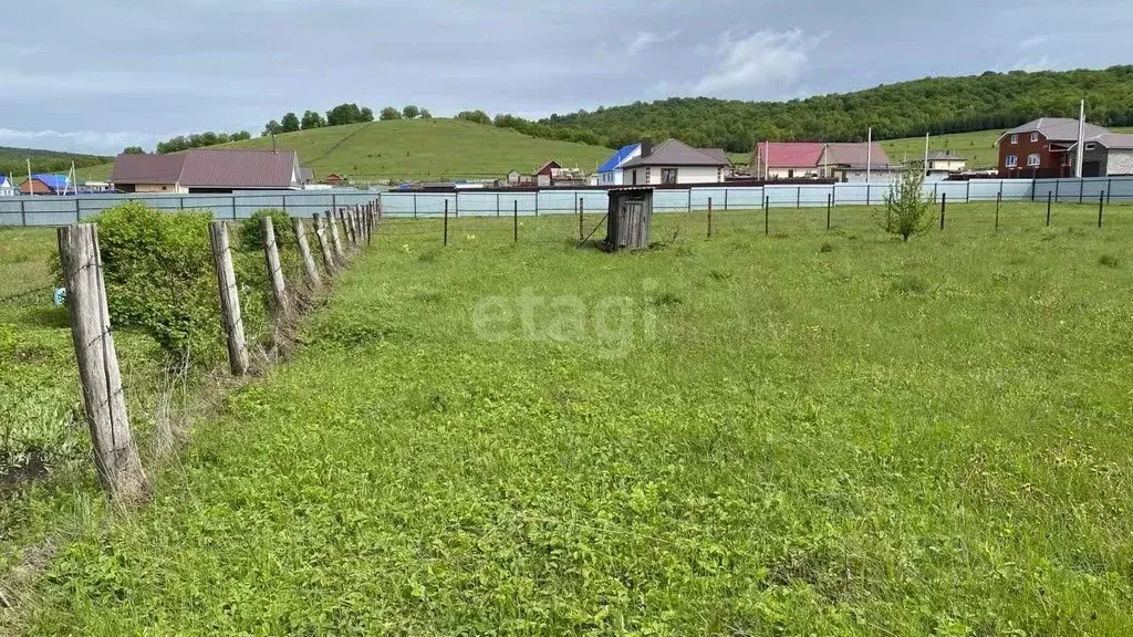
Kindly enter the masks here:
[[1130, 0], [40, 0], [5, 11], [0, 146], [113, 154], [342, 102], [529, 118], [1130, 63]]

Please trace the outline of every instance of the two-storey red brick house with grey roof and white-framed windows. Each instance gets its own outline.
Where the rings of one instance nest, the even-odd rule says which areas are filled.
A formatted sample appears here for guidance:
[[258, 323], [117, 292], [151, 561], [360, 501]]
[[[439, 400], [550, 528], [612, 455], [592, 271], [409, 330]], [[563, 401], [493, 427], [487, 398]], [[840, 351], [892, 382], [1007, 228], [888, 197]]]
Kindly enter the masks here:
[[[1085, 125], [1085, 137], [1109, 133]], [[1012, 128], [999, 137], [999, 177], [1049, 178], [1073, 177], [1073, 146], [1077, 144], [1077, 120], [1043, 117]]]

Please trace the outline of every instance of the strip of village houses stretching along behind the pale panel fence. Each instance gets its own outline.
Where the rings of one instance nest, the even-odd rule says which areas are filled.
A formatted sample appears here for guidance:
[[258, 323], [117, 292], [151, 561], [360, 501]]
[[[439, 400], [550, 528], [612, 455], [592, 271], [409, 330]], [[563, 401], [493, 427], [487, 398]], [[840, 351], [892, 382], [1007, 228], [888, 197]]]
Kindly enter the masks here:
[[[1079, 136], [1082, 147], [1079, 147]], [[905, 170], [926, 179], [1036, 179], [1073, 177], [1082, 153], [1083, 177], [1133, 175], [1133, 135], [1116, 134], [1075, 119], [1040, 118], [1005, 131], [993, 170], [969, 170], [963, 158], [929, 147], [922, 158], [894, 163], [880, 144], [760, 142], [747, 165], [734, 165], [723, 148], [698, 148], [680, 139], [641, 139], [615, 151], [593, 173], [553, 159], [530, 171], [519, 167], [496, 179], [380, 184], [398, 190], [613, 188], [787, 182], [889, 182]], [[31, 173], [17, 182], [0, 175], [0, 196], [99, 193], [228, 194], [238, 190], [304, 190], [373, 186], [347, 176], [316, 178], [295, 151], [194, 148], [170, 154], [121, 154], [109, 181], [70, 175]]]

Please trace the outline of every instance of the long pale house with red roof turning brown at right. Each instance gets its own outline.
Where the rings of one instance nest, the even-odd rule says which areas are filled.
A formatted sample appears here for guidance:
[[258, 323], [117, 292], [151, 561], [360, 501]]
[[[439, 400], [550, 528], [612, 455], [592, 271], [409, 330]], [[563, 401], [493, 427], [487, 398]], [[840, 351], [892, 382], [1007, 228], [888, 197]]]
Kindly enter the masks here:
[[763, 179], [888, 180], [904, 170], [880, 144], [760, 142], [751, 153], [751, 175]]

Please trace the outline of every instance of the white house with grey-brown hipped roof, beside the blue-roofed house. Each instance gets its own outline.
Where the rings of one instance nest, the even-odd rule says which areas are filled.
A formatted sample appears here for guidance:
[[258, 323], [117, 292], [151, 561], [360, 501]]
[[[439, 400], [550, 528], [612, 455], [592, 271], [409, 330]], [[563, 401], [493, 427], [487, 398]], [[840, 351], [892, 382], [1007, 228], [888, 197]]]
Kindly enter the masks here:
[[653, 147], [641, 142], [641, 155], [622, 164], [623, 185], [721, 184], [732, 162], [721, 148], [693, 148], [678, 139]]

